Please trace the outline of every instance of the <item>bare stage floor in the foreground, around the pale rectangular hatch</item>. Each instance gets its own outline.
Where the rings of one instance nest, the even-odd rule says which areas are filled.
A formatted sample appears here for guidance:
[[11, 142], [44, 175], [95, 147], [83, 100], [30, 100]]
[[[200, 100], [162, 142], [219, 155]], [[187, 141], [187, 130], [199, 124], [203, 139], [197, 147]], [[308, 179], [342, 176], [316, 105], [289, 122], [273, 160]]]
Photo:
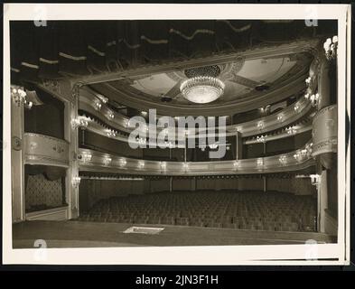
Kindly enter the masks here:
[[[126, 228], [164, 228], [157, 235], [123, 231]], [[169, 225], [139, 225], [88, 221], [33, 220], [14, 224], [13, 247], [30, 248], [36, 239], [47, 247], [137, 247], [137, 246], [227, 246], [304, 244], [313, 239], [318, 243], [334, 243], [336, 239], [313, 232], [273, 232], [232, 228], [200, 228]]]

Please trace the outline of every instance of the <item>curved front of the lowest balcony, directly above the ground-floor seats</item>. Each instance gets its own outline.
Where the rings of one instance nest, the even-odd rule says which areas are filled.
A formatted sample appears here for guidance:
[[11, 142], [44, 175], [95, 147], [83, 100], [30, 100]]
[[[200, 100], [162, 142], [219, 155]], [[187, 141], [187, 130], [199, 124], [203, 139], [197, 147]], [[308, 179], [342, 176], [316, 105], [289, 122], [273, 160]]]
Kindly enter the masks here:
[[[116, 172], [140, 175], [218, 175], [289, 172], [303, 170], [314, 165], [310, 154], [303, 154], [300, 149], [289, 154], [274, 155], [264, 158], [242, 159], [236, 161], [214, 162], [162, 162], [126, 158], [114, 154], [103, 154], [94, 150], [79, 149], [79, 154], [90, 154], [91, 158], [84, 162], [79, 158], [79, 171]], [[297, 155], [297, 157], [294, 157]], [[122, 165], [122, 159], [125, 165]], [[282, 162], [280, 161], [282, 159]], [[107, 162], [109, 160], [109, 162]], [[142, 163], [144, 164], [142, 166]], [[142, 168], [144, 167], [144, 169]]]

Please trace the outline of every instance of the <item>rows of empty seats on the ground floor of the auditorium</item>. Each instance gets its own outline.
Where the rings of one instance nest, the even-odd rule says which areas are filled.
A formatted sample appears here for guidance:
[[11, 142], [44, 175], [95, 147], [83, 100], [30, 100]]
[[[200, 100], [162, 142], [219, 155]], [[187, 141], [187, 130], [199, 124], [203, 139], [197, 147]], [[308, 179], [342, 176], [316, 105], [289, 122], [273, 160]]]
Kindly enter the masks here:
[[178, 191], [99, 200], [80, 220], [313, 231], [316, 201], [277, 191]]

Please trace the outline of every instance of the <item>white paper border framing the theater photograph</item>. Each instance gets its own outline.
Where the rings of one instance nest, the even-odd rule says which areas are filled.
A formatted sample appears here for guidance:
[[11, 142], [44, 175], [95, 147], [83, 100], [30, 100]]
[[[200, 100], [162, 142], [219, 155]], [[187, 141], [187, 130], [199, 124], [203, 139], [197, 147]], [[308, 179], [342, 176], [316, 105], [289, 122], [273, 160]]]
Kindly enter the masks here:
[[[47, 248], [44, 261], [36, 261], [35, 255], [38, 248], [14, 249], [9, 23], [12, 20], [36, 20], [36, 11], [39, 7], [46, 12], [46, 20], [296, 20], [307, 19], [307, 17], [314, 15], [314, 12], [318, 20], [337, 20], [338, 67], [341, 68], [337, 71], [339, 81], [338, 243], [319, 244], [317, 260], [305, 260], [308, 249], [305, 245]], [[346, 120], [344, 114], [348, 111], [350, 117], [350, 21], [350, 5], [5, 4], [3, 263], [42, 265], [349, 265], [350, 144], [345, 143]]]

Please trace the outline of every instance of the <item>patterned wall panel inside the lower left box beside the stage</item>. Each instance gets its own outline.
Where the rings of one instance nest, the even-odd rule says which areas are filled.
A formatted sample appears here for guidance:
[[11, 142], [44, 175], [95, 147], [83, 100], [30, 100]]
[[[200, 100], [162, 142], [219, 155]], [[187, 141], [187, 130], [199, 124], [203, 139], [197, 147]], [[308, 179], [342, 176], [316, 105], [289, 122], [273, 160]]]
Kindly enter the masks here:
[[29, 175], [25, 190], [26, 210], [45, 210], [62, 205], [61, 178], [49, 181], [43, 174]]

